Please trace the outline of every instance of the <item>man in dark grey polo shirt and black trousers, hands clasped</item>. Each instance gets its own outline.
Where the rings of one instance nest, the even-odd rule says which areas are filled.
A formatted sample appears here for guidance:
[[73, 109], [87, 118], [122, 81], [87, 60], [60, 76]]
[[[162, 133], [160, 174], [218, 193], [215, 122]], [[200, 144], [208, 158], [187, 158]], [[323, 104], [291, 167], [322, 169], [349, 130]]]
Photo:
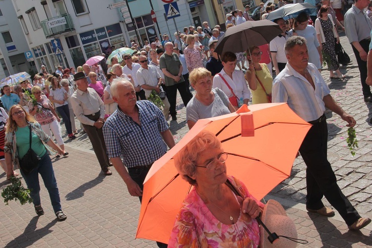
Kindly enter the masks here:
[[163, 71], [165, 77], [166, 92], [169, 103], [171, 104], [169, 112], [172, 116], [172, 121], [176, 121], [177, 90], [180, 92], [185, 107], [191, 97], [187, 93], [186, 81], [182, 76], [182, 63], [178, 55], [173, 52], [172, 42], [167, 42], [165, 44], [165, 53], [160, 57], [159, 67]]

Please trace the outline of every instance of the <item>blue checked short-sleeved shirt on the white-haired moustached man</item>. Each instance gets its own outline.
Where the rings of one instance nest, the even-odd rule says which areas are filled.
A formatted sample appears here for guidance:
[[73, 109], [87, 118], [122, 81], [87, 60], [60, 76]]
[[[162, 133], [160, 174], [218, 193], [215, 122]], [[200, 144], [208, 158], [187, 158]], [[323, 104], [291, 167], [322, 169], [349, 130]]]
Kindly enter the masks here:
[[167, 152], [160, 135], [168, 130], [163, 113], [150, 101], [137, 101], [136, 106], [141, 125], [118, 108], [103, 126], [109, 157], [123, 156], [127, 168], [150, 165]]

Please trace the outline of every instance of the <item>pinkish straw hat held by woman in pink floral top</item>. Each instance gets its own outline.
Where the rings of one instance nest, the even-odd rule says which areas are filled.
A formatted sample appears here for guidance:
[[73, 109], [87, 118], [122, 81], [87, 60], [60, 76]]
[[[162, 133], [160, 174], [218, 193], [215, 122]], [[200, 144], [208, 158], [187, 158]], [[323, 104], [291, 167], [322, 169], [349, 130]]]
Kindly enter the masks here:
[[[268, 200], [261, 216], [263, 224], [271, 233], [276, 233], [278, 236], [287, 236], [297, 239], [297, 230], [295, 223], [286, 214], [282, 205], [275, 200]], [[279, 239], [271, 244], [267, 237], [268, 233], [260, 227], [260, 247], [261, 248], [294, 248], [297, 243], [286, 238], [279, 237]]]

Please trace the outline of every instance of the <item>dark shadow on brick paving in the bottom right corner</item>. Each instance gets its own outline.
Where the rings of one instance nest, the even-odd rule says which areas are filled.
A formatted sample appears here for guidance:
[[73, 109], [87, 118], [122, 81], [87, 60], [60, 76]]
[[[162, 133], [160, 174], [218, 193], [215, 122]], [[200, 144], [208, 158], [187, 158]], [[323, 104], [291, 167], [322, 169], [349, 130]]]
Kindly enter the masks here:
[[[323, 216], [309, 214], [313, 221], [316, 231], [323, 245], [332, 245], [336, 247], [352, 248], [355, 243], [362, 243], [366, 246], [372, 246], [371, 232], [369, 235], [364, 235], [361, 231], [340, 231], [330, 221]], [[355, 247], [355, 246], [354, 246]]]

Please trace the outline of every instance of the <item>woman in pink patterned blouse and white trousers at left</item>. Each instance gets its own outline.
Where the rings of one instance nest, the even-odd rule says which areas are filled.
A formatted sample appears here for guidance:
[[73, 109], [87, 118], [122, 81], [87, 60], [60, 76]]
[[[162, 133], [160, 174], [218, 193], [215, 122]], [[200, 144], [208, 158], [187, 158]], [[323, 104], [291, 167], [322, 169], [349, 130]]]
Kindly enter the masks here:
[[[43, 131], [49, 137], [54, 136], [56, 138], [57, 144], [62, 150], [61, 155], [66, 156], [68, 152], [64, 151], [64, 143], [59, 124], [61, 119], [58, 117], [51, 101], [45, 95], [41, 94], [41, 89], [39, 86], [32, 87], [31, 92], [34, 95], [36, 102], [29, 101], [28, 103], [30, 115], [36, 119], [36, 121], [41, 125]], [[53, 132], [53, 136], [51, 130]], [[57, 157], [60, 157], [61, 155], [58, 154]]]

